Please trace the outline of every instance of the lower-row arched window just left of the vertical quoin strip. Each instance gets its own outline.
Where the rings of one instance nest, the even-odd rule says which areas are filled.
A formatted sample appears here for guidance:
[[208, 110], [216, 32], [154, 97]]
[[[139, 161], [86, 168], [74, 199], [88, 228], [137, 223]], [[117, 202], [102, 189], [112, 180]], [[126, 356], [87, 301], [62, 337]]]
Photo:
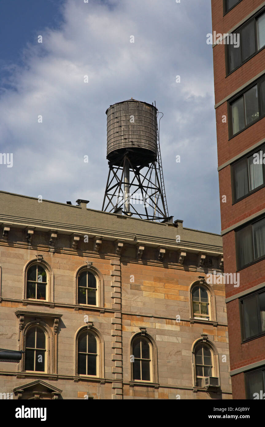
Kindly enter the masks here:
[[98, 340], [94, 333], [84, 330], [78, 336], [78, 375], [97, 375]]

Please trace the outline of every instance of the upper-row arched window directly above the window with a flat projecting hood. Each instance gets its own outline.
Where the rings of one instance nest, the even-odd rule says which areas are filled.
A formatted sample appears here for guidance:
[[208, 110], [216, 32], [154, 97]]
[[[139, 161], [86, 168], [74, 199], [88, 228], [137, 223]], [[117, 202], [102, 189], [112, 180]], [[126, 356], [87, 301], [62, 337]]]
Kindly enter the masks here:
[[48, 275], [46, 269], [40, 264], [33, 264], [26, 270], [26, 298], [43, 299], [48, 298]]

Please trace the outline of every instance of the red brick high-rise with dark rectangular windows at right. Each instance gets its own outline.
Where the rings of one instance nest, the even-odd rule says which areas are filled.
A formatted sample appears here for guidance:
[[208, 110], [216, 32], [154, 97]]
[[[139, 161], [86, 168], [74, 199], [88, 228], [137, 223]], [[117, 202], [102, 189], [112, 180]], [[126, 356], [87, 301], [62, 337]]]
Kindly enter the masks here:
[[253, 399], [265, 392], [265, 2], [212, 0], [212, 23], [224, 269], [237, 278], [230, 375], [233, 399]]

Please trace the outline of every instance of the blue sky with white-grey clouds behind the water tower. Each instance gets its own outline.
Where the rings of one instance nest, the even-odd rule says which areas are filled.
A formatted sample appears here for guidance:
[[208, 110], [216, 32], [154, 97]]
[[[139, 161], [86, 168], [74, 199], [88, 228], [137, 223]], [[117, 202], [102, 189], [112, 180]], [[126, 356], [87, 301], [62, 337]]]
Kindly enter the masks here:
[[106, 109], [156, 101], [169, 214], [219, 233], [211, 31], [210, 0], [1, 0], [0, 189], [100, 210]]

